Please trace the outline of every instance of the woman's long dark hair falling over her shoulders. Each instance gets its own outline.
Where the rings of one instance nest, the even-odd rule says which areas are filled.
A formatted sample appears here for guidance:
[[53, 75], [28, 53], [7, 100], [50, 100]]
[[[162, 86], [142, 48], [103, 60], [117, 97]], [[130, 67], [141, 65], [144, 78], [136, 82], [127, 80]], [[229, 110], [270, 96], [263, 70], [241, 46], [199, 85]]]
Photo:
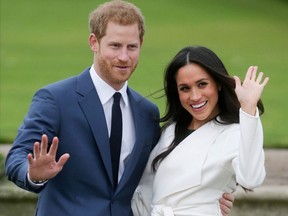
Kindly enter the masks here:
[[[180, 103], [176, 83], [178, 70], [191, 63], [196, 63], [203, 67], [213, 77], [218, 86], [221, 87], [218, 98], [220, 110], [218, 116], [221, 122], [218, 122], [221, 124], [239, 123], [240, 103], [235, 93], [235, 80], [229, 76], [222, 61], [213, 51], [206, 47], [195, 46], [183, 48], [168, 64], [164, 74], [166, 113], [160, 119], [160, 122], [164, 123], [162, 130], [175, 122], [175, 137], [168, 149], [153, 160], [152, 169], [154, 171], [156, 171], [158, 164], [182, 141], [184, 133], [192, 121], [191, 114]], [[258, 101], [257, 106], [259, 114], [264, 113], [264, 106], [261, 100]]]

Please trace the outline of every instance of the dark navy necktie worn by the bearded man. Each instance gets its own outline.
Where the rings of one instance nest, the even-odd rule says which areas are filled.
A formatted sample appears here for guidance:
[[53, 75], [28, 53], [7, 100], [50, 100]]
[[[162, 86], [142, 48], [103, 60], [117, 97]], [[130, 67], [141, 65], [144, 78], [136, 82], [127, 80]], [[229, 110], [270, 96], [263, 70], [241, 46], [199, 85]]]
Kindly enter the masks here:
[[113, 95], [114, 102], [112, 106], [112, 121], [110, 134], [110, 151], [113, 170], [114, 189], [118, 185], [119, 159], [122, 141], [122, 112], [120, 108], [121, 93], [116, 92]]

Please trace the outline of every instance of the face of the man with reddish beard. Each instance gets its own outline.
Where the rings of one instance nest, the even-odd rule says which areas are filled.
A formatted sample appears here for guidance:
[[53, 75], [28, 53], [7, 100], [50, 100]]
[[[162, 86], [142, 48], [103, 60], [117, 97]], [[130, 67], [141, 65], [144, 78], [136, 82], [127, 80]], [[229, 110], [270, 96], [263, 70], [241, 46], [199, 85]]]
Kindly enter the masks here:
[[90, 46], [95, 52], [96, 72], [115, 90], [121, 89], [138, 64], [141, 41], [137, 23], [108, 22], [104, 37], [100, 41], [95, 37], [94, 43], [91, 43], [92, 39], [93, 34], [90, 35]]

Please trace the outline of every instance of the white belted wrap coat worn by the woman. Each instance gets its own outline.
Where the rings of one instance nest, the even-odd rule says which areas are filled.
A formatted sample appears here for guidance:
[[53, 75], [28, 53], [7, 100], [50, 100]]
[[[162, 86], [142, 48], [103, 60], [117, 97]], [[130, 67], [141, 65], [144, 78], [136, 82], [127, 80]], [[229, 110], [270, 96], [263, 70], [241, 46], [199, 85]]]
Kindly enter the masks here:
[[240, 109], [240, 123], [210, 121], [186, 137], [159, 165], [153, 159], [174, 139], [175, 124], [163, 131], [132, 199], [134, 216], [221, 215], [219, 199], [237, 183], [249, 189], [265, 178], [263, 129]]

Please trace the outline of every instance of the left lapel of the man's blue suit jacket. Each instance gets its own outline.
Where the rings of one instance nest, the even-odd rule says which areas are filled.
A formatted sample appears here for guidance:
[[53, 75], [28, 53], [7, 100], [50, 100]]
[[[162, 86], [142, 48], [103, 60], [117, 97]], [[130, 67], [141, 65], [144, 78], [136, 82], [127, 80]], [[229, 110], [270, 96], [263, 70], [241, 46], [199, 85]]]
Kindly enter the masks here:
[[88, 124], [90, 125], [105, 169], [112, 184], [112, 165], [110, 160], [109, 135], [106, 126], [106, 119], [99, 96], [90, 77], [89, 69], [79, 76], [77, 92], [83, 96], [79, 100], [79, 105], [86, 116]]

